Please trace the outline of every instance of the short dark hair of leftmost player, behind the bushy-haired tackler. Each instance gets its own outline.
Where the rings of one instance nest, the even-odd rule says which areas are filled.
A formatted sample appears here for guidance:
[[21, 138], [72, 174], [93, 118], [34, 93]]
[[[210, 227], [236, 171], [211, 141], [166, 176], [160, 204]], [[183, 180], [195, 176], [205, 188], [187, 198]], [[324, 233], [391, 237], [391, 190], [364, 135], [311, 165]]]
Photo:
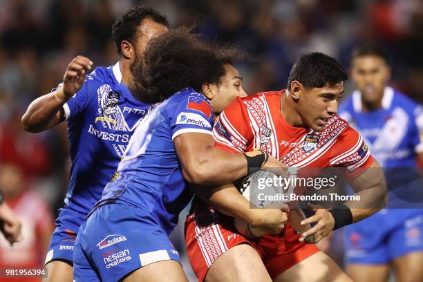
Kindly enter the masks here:
[[122, 41], [127, 40], [131, 44], [135, 44], [138, 26], [144, 19], [152, 19], [156, 23], [169, 27], [166, 17], [152, 8], [137, 6], [127, 10], [116, 19], [112, 26], [112, 38], [119, 55], [122, 55], [122, 48], [120, 47]]

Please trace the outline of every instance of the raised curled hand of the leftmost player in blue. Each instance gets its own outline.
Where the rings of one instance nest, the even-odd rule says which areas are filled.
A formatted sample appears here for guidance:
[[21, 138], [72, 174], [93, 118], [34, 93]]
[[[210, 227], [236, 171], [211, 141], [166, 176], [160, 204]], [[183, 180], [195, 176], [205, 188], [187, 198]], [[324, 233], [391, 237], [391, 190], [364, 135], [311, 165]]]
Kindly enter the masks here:
[[85, 81], [85, 75], [91, 70], [92, 66], [93, 62], [91, 59], [84, 56], [75, 57], [75, 59], [68, 64], [68, 68], [66, 68], [63, 77], [62, 92], [64, 99], [68, 100], [81, 89]]

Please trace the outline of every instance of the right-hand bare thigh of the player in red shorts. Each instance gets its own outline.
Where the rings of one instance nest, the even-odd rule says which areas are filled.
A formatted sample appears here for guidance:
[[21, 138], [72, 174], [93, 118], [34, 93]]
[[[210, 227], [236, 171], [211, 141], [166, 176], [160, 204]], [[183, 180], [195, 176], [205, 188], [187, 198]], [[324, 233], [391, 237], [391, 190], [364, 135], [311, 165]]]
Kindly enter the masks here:
[[276, 276], [274, 281], [344, 282], [351, 279], [329, 256], [323, 252], [317, 252]]

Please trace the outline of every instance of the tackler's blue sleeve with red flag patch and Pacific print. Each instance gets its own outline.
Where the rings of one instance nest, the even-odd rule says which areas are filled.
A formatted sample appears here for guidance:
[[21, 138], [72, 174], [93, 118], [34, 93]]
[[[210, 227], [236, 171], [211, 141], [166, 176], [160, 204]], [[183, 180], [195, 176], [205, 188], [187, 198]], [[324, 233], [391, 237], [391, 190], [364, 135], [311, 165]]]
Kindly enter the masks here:
[[213, 111], [207, 98], [196, 92], [179, 95], [184, 96], [175, 101], [175, 107], [171, 107], [169, 114], [172, 140], [189, 132], [213, 135]]

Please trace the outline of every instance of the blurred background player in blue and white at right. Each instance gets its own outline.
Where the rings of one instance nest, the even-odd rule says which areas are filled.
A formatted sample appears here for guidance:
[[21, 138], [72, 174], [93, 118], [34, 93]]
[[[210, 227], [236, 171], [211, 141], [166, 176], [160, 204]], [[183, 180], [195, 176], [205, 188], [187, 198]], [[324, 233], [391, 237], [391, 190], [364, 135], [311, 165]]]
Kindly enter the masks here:
[[406, 201], [422, 197], [421, 182], [410, 182], [409, 172], [417, 159], [423, 161], [423, 108], [388, 86], [389, 61], [382, 46], [357, 48], [351, 70], [357, 91], [339, 107], [341, 118], [391, 171], [386, 173], [388, 183], [396, 178], [391, 208], [346, 227], [347, 271], [354, 281], [387, 281], [391, 267], [398, 281], [423, 279], [423, 210], [409, 209], [412, 203]]

